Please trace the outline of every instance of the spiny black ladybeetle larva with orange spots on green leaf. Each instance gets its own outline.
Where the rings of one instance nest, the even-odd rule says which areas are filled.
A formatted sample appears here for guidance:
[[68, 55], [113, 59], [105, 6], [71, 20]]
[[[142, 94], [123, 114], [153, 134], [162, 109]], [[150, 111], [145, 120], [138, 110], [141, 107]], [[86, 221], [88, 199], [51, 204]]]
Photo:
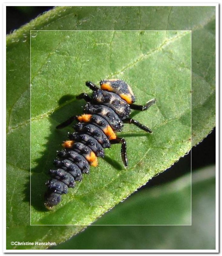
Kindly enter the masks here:
[[121, 143], [121, 156], [125, 167], [128, 165], [126, 156], [126, 141], [117, 137], [115, 132], [121, 131], [123, 123], [135, 124], [146, 132], [152, 132], [148, 127], [129, 117], [131, 109], [144, 111], [156, 100], [150, 100], [146, 105], [136, 105], [132, 89], [119, 79], [100, 81], [101, 89], [91, 82], [86, 82], [92, 97], [81, 93], [77, 99], [86, 100], [84, 114], [72, 116], [56, 128], [60, 129], [74, 120], [79, 121], [73, 126], [76, 132], [69, 133], [69, 140], [63, 142], [65, 148], [57, 153], [54, 160], [55, 169], [50, 170], [51, 180], [46, 182], [45, 207], [51, 209], [61, 201], [61, 195], [67, 194], [68, 188], [75, 186], [75, 181], [82, 180], [82, 173], [89, 173], [89, 165], [97, 166], [97, 156], [104, 156], [103, 148], [111, 144]]

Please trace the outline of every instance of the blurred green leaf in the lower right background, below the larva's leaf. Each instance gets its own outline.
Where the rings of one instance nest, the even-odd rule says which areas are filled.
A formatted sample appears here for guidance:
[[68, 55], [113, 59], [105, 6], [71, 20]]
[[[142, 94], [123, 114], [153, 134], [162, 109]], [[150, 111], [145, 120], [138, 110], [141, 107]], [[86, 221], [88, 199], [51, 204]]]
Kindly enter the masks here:
[[[215, 166], [192, 172], [192, 225], [191, 205], [187, 200], [190, 182], [189, 173], [169, 184], [133, 194], [95, 222], [95, 225], [113, 226], [91, 226], [50, 249], [213, 250], [216, 242]], [[178, 226], [155, 226], [174, 223], [175, 219]], [[181, 220], [187, 220], [188, 226], [179, 226]], [[139, 226], [142, 223], [150, 226]]]

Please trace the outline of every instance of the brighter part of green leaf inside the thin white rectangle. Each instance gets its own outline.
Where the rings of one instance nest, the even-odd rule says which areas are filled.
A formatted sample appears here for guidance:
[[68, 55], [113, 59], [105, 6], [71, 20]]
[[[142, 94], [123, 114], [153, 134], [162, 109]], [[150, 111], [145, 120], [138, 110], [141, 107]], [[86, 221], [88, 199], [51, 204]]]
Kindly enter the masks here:
[[[190, 50], [190, 31], [31, 32], [31, 224], [88, 225], [190, 150]], [[55, 127], [82, 113], [84, 102], [75, 96], [91, 93], [84, 81], [100, 77], [132, 84], [139, 103], [157, 99], [149, 112], [133, 113], [154, 133], [126, 125], [119, 136], [126, 138], [128, 168], [120, 145], [113, 145], [54, 211], [45, 212], [44, 183], [66, 139]], [[58, 106], [70, 94], [73, 102]]]

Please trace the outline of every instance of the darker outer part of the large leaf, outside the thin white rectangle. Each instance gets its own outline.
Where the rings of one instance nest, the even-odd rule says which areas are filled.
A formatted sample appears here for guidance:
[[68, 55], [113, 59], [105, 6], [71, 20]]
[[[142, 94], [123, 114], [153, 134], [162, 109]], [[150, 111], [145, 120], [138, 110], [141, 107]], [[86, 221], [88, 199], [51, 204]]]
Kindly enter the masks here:
[[[6, 182], [8, 249], [31, 248], [30, 246], [11, 246], [12, 239], [17, 240], [18, 237], [23, 239], [22, 241], [36, 241], [37, 239], [44, 242], [53, 238], [55, 242], [59, 243], [83, 228], [81, 226], [29, 226], [30, 29], [191, 29], [193, 72], [192, 139], [194, 139], [192, 145], [202, 140], [215, 125], [215, 7], [57, 7], [31, 21], [26, 26], [7, 36], [7, 163], [9, 165], [7, 165]], [[131, 81], [127, 82], [130, 83]], [[68, 97], [68, 99], [71, 98]], [[66, 107], [68, 109], [69, 105], [66, 105]], [[78, 105], [78, 108], [80, 109], [80, 105]], [[157, 108], [157, 106], [154, 108]], [[154, 109], [150, 109], [149, 116], [153, 115], [152, 113], [154, 112], [152, 111]], [[141, 114], [138, 117], [142, 118], [143, 113]], [[59, 113], [55, 116], [55, 119], [58, 118], [61, 118]], [[54, 123], [57, 124], [55, 120]], [[49, 127], [49, 124], [46, 123], [46, 125]], [[53, 124], [51, 125], [53, 126]], [[58, 137], [61, 137], [61, 135]], [[42, 144], [46, 141], [47, 139], [42, 139]], [[132, 141], [131, 138], [130, 141]], [[57, 143], [60, 143], [60, 139], [57, 139]], [[37, 146], [39, 146], [39, 149], [42, 148], [42, 145]], [[38, 152], [40, 153], [41, 150]], [[54, 154], [54, 152], [54, 149], [51, 148], [50, 153]], [[116, 156], [116, 159], [118, 159], [119, 155], [117, 154]], [[42, 158], [43, 167], [47, 157], [53, 159], [51, 158], [52, 155], [44, 155], [44, 157], [45, 159]], [[13, 182], [11, 182], [12, 179]], [[87, 183], [87, 179], [87, 177], [84, 177], [84, 182]], [[38, 183], [36, 183], [37, 192], [43, 188], [41, 186], [44, 186], [42, 183], [39, 185], [38, 187]], [[46, 247], [34, 246], [32, 248], [42, 249]]]

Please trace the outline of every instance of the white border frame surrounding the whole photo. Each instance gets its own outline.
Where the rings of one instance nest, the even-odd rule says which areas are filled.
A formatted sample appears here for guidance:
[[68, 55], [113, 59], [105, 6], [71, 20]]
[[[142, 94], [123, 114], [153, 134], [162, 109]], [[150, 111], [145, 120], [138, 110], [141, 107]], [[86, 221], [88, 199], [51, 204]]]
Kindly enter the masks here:
[[[40, 252], [46, 252], [46, 253], [52, 253], [52, 252], [75, 252], [75, 253], [84, 253], [84, 252], [93, 252], [93, 253], [116, 253], [116, 252], [119, 252], [119, 253], [163, 253], [163, 252], [179, 252], [179, 253], [190, 253], [190, 252], [195, 252], [195, 253], [216, 253], [216, 252], [219, 252], [219, 240], [218, 240], [218, 231], [219, 231], [219, 221], [218, 221], [218, 210], [219, 210], [219, 200], [218, 200], [218, 195], [219, 195], [219, 129], [218, 129], [218, 125], [219, 125], [219, 80], [218, 80], [218, 74], [219, 74], [219, 66], [218, 66], [218, 60], [219, 60], [219, 57], [218, 57], [218, 54], [219, 54], [219, 44], [218, 44], [218, 39], [219, 39], [219, 36], [218, 36], [218, 32], [219, 32], [219, 29], [218, 29], [218, 24], [219, 24], [219, 17], [218, 17], [218, 10], [219, 10], [219, 5], [218, 3], [202, 3], [201, 1], [197, 0], [196, 2], [198, 3], [193, 3], [192, 1], [189, 1], [189, 3], [175, 3], [173, 0], [171, 1], [171, 3], [167, 3], [166, 0], [163, 0], [165, 3], [155, 3], [155, 4], [147, 4], [147, 3], [144, 3], [144, 2], [140, 2], [140, 3], [137, 3], [137, 4], [134, 4], [134, 3], [131, 3], [129, 4], [128, 2], [125, 1], [122, 1], [121, 3], [119, 3], [118, 1], [116, 2], [112, 2], [112, 4], [104, 4], [104, 1], [98, 1], [97, 0], [97, 4], [96, 3], [90, 3], [90, 4], [86, 4], [86, 2], [81, 2], [81, 3], [56, 3], [57, 6], [64, 6], [64, 5], [70, 5], [70, 6], [96, 6], [96, 5], [99, 5], [99, 6], [140, 6], [142, 4], [142, 6], [169, 6], [169, 5], [173, 5], [173, 6], [215, 6], [216, 7], [216, 249], [215, 250], [53, 250], [53, 251], [50, 251], [50, 250], [7, 250], [6, 249], [6, 212], [4, 211], [3, 212], [3, 232], [4, 232], [4, 245], [2, 246], [2, 248], [4, 248], [4, 252], [13, 252], [13, 253], [16, 253], [16, 252], [19, 252], [19, 253], [27, 253], [27, 252], [36, 252], [36, 253], [40, 253]], [[6, 69], [5, 69], [5, 60], [6, 60], [6, 33], [5, 33], [5, 25], [6, 25], [6, 6], [14, 6], [14, 5], [19, 5], [19, 6], [33, 6], [33, 5], [41, 5], [41, 6], [52, 6], [52, 4], [55, 5], [55, 3], [53, 2], [50, 2], [48, 1], [48, 3], [34, 3], [34, 4], [30, 4], [30, 2], [27, 2], [26, 0], [21, 4], [21, 3], [17, 3], [18, 1], [15, 0], [14, 3], [4, 3], [3, 4], [3, 43], [2, 43], [2, 48], [3, 48], [3, 84], [5, 85], [6, 84]], [[113, 4], [115, 3], [115, 4]], [[5, 88], [3, 86], [3, 123], [4, 123], [4, 128], [3, 128], [3, 170], [6, 170], [6, 153], [5, 153], [5, 148], [6, 148], [6, 131], [5, 131], [5, 127], [6, 127], [6, 123], [5, 123], [5, 113], [6, 113], [6, 91], [5, 91]], [[222, 156], [222, 153], [221, 153], [221, 156]], [[6, 172], [3, 173], [3, 181], [4, 181], [4, 184], [3, 184], [3, 208], [5, 207], [6, 205]]]

